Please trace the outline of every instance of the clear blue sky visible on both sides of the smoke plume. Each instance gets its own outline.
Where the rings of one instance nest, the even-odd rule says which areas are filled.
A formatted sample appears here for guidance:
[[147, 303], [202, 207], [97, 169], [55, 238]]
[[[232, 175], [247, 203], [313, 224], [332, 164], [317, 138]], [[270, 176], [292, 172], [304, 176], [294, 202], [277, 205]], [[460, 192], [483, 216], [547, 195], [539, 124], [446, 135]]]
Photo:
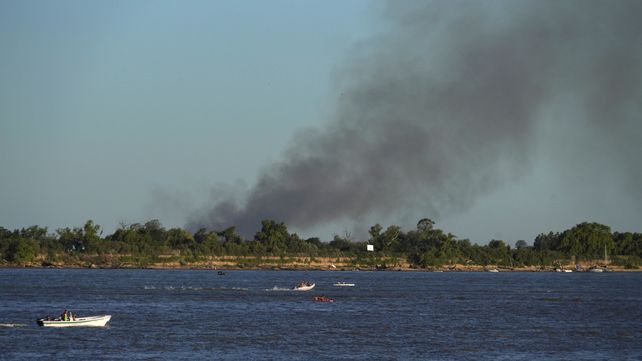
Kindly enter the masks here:
[[[385, 9], [405, 19], [365, 0], [0, 2], [0, 226], [182, 227], [221, 190], [252, 188], [294, 137], [337, 117], [346, 64], [389, 30]], [[434, 38], [437, 51], [449, 46]], [[560, 125], [578, 117], [564, 110], [574, 101], [539, 113], [527, 170], [499, 166], [502, 181], [457, 211], [291, 228], [328, 239], [355, 223], [407, 229], [430, 217], [483, 243], [530, 242], [584, 221], [641, 231], [640, 192], [613, 176], [640, 174], [619, 161], [640, 150], [640, 127], [623, 121], [614, 134], [628, 145], [614, 151], [581, 123]]]

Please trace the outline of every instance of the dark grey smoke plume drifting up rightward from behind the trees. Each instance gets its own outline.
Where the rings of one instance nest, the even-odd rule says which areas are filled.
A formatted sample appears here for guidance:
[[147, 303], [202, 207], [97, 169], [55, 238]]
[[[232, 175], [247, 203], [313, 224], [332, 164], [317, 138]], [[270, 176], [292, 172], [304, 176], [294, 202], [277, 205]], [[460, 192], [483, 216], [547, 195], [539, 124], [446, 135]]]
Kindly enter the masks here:
[[[219, 200], [189, 228], [234, 225], [250, 235], [263, 219], [306, 229], [465, 210], [527, 174], [551, 107], [563, 109], [555, 121], [565, 129], [596, 130], [612, 146], [607, 158], [623, 159], [623, 179], [641, 175], [631, 154], [641, 154], [642, 2], [392, 1], [383, 9], [380, 35], [357, 44], [338, 72], [335, 118], [299, 132], [243, 197]], [[632, 142], [622, 149], [625, 135]]]

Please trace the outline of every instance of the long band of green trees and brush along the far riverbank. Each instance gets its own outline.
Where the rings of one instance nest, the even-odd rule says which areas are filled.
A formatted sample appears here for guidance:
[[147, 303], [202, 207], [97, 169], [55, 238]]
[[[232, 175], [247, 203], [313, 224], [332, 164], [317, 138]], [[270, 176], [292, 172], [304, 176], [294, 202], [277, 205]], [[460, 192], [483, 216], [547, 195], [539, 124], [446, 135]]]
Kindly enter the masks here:
[[[157, 220], [122, 225], [113, 234], [102, 236], [101, 227], [89, 220], [83, 227], [47, 228], [32, 226], [10, 231], [0, 227], [0, 264], [77, 265], [82, 262], [119, 267], [122, 263], [145, 267], [161, 259], [189, 265], [210, 256], [253, 257], [345, 257], [354, 264], [390, 267], [403, 260], [416, 268], [452, 264], [498, 265], [504, 267], [555, 266], [601, 260], [608, 253], [611, 264], [638, 268], [642, 258], [642, 234], [612, 233], [608, 226], [581, 223], [561, 233], [542, 233], [532, 245], [524, 240], [511, 247], [503, 240], [487, 245], [457, 239], [422, 219], [414, 230], [404, 232], [392, 225], [376, 224], [366, 241], [352, 241], [336, 235], [330, 242], [302, 239], [290, 233], [284, 223], [265, 220], [253, 239], [243, 239], [234, 227], [221, 231], [181, 228], [165, 229]], [[367, 252], [366, 244], [375, 252]]]

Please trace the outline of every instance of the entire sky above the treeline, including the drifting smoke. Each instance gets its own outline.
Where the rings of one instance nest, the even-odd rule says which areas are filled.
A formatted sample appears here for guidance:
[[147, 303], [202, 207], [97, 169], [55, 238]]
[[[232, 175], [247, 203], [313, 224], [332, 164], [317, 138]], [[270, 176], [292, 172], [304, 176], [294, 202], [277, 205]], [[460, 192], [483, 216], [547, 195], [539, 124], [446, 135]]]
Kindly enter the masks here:
[[0, 2], [0, 226], [642, 231], [636, 1]]

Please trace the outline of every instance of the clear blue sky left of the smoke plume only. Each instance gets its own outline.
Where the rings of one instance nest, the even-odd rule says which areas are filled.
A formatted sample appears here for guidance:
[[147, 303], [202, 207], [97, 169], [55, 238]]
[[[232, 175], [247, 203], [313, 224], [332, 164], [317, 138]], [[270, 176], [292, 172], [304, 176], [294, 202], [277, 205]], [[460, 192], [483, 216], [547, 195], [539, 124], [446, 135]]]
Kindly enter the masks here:
[[333, 69], [371, 30], [369, 11], [355, 0], [3, 1], [3, 226], [93, 218], [109, 229], [162, 219], [153, 189], [195, 202], [212, 184], [251, 182], [294, 131], [332, 113]]

